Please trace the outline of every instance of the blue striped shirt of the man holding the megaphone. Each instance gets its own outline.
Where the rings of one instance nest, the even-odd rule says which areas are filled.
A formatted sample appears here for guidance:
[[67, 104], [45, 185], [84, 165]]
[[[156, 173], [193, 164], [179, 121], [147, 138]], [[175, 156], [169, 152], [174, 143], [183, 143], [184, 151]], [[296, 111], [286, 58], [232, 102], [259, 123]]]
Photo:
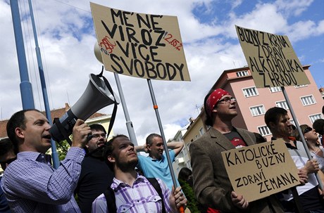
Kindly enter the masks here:
[[82, 148], [70, 148], [60, 167], [53, 169], [42, 153], [18, 153], [1, 181], [13, 212], [80, 212], [73, 191], [83, 157]]

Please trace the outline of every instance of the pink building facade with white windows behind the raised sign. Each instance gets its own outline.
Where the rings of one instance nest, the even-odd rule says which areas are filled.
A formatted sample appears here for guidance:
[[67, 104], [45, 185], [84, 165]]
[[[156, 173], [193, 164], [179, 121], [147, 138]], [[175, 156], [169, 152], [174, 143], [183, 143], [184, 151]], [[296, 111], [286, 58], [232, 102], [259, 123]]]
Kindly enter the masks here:
[[[285, 86], [285, 91], [299, 125], [308, 124], [311, 126], [314, 120], [324, 118], [322, 114], [324, 100], [309, 67], [310, 65], [304, 65], [304, 72], [310, 84]], [[264, 122], [266, 110], [275, 106], [285, 108], [292, 119], [281, 88], [256, 88], [249, 67], [225, 70], [213, 88], [223, 88], [237, 99], [238, 115], [232, 120], [235, 127], [258, 132], [268, 140], [272, 134]]]

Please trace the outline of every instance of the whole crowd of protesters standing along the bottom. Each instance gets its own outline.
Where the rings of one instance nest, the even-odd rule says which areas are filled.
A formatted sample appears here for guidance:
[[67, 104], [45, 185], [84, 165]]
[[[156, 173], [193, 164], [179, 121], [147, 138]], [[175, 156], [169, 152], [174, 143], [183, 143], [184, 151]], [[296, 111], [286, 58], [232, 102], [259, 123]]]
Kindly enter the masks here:
[[[73, 140], [57, 169], [51, 166], [51, 125], [39, 110], [20, 110], [8, 121], [8, 138], [0, 141], [0, 212], [309, 212], [324, 213], [324, 120], [300, 126], [300, 135], [287, 110], [273, 107], [264, 120], [282, 138], [297, 166], [300, 184], [249, 202], [233, 190], [222, 152], [266, 142], [260, 134], [232, 125], [237, 101], [223, 89], [204, 98], [206, 133], [192, 142], [192, 169], [183, 167], [174, 186], [171, 162], [182, 150], [181, 141], [167, 143], [149, 134], [143, 146], [125, 135], [107, 142], [101, 124], [77, 120]], [[301, 140], [306, 141], [309, 160]], [[139, 155], [148, 153], [148, 156]], [[323, 182], [324, 183], [324, 182]]]

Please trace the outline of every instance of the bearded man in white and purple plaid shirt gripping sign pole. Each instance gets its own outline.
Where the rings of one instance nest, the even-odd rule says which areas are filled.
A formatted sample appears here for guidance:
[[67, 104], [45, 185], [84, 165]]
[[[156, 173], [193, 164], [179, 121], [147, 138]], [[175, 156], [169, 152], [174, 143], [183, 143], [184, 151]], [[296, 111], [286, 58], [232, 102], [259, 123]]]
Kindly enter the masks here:
[[[186, 205], [187, 199], [180, 187], [170, 192], [166, 184], [157, 179], [163, 194], [161, 198], [147, 178], [135, 171], [138, 157], [127, 136], [114, 136], [105, 149], [105, 159], [115, 174], [111, 189], [116, 197], [116, 212], [162, 212], [163, 205], [166, 212], [178, 212], [180, 206]], [[106, 213], [107, 208], [104, 194], [92, 203], [93, 213]]]

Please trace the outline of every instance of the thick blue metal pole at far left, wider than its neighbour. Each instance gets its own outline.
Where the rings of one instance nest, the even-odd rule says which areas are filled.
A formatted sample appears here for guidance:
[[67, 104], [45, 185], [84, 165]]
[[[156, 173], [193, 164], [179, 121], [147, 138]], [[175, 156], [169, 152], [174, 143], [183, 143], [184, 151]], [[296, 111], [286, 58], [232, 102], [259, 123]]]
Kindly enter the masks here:
[[13, 32], [15, 33], [15, 49], [17, 50], [19, 74], [20, 74], [20, 96], [23, 109], [34, 109], [34, 97], [32, 96], [32, 84], [30, 83], [27, 70], [23, 32], [21, 30], [18, 0], [10, 0], [11, 15], [13, 17]]

